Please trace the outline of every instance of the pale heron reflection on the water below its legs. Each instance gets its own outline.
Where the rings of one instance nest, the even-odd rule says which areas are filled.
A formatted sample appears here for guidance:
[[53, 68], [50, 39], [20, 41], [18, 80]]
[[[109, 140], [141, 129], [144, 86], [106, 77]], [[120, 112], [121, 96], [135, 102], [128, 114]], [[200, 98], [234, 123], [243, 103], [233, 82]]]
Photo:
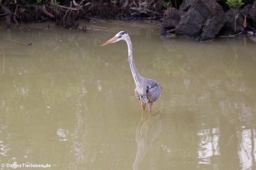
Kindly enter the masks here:
[[162, 117], [159, 112], [141, 113], [141, 121], [136, 130], [137, 153], [133, 163], [133, 170], [138, 170], [139, 163], [144, 159], [151, 145], [156, 140], [162, 127]]

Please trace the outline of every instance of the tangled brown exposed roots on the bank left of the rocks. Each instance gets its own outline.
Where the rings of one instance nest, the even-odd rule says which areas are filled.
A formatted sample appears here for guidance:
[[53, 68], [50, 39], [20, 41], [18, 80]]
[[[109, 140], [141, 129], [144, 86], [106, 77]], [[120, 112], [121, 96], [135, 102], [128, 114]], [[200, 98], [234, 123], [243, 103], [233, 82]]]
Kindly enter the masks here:
[[7, 29], [10, 29], [11, 20], [17, 25], [19, 23], [52, 20], [56, 25], [63, 28], [76, 29], [79, 20], [88, 21], [90, 17], [94, 19], [124, 20], [140, 17], [157, 19], [163, 14], [163, 11], [154, 10], [155, 2], [152, 3], [153, 1], [149, 4], [140, 0], [124, 0], [121, 4], [114, 1], [71, 0], [68, 5], [60, 4], [60, 2], [66, 2], [61, 0], [50, 0], [50, 2], [42, 0], [39, 3], [28, 3], [24, 0], [8, 2], [2, 3], [0, 8], [0, 18], [6, 17]]

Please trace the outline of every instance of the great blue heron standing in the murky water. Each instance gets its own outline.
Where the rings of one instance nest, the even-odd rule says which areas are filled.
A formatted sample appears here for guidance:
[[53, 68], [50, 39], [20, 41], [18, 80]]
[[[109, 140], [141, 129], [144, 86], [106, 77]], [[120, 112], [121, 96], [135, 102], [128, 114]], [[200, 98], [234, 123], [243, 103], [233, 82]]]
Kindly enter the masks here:
[[141, 101], [142, 110], [145, 109], [146, 103], [148, 103], [148, 111], [150, 113], [152, 110], [153, 102], [156, 101], [160, 96], [162, 87], [155, 80], [144, 78], [138, 73], [132, 56], [132, 42], [129, 35], [125, 31], [120, 31], [113, 38], [106, 41], [101, 46], [105, 46], [110, 43], [115, 43], [120, 40], [126, 41], [128, 46], [128, 59], [132, 71], [132, 76], [136, 84], [135, 96], [137, 99]]

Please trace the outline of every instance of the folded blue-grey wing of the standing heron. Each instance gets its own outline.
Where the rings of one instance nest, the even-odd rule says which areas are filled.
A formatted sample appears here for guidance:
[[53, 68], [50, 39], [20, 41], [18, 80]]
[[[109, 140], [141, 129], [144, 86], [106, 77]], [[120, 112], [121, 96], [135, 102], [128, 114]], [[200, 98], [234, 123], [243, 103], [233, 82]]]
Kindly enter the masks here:
[[155, 81], [149, 79], [147, 96], [151, 101], [156, 101], [161, 93], [161, 86]]

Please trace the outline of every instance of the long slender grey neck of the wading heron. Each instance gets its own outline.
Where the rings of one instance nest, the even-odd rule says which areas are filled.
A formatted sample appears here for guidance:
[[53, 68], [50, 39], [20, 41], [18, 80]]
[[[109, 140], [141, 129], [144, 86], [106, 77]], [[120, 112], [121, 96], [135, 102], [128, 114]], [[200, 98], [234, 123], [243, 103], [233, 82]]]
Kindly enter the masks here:
[[126, 40], [126, 43], [127, 43], [127, 46], [128, 46], [128, 60], [129, 60], [130, 68], [131, 68], [131, 71], [132, 71], [132, 76], [133, 76], [133, 79], [134, 79], [134, 82], [135, 82], [136, 86], [139, 86], [139, 85], [141, 85], [141, 78], [142, 77], [138, 73], [138, 71], [136, 69], [136, 66], [134, 64], [134, 61], [133, 61], [132, 42], [131, 42], [130, 37], [128, 37], [128, 39]]

